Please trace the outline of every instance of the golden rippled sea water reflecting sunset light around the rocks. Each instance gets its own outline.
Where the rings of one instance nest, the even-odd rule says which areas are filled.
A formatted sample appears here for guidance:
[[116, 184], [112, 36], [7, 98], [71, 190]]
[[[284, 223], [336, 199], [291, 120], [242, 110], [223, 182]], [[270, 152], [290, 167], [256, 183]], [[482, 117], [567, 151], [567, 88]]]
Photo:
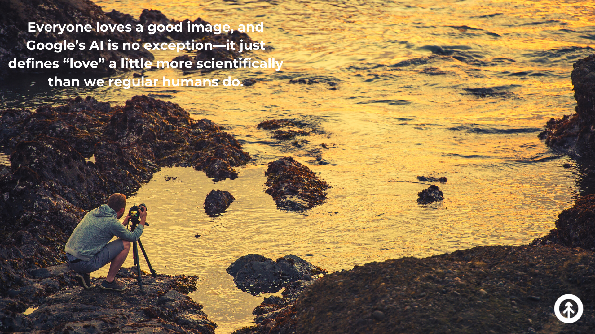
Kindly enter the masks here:
[[[591, 166], [575, 166], [537, 135], [547, 119], [574, 112], [569, 74], [573, 62], [593, 53], [592, 2], [98, 4], [136, 17], [154, 8], [213, 24], [264, 21], [265, 31], [250, 36], [274, 50], [250, 57], [284, 61], [281, 71], [149, 73], [262, 79], [252, 87], [51, 90], [46, 77], [0, 87], [2, 103], [21, 108], [62, 103], [76, 93], [112, 104], [152, 94], [236, 136], [255, 158], [239, 169], [239, 178], [213, 184], [193, 169], [164, 168], [129, 200], [149, 206], [154, 225], [143, 239], [158, 272], [201, 276], [192, 297], [220, 325], [217, 333], [249, 324], [262, 301], [236, 289], [225, 272], [239, 256], [293, 253], [337, 270], [476, 245], [524, 244], [546, 234], [578, 194], [591, 192]], [[289, 83], [292, 78], [330, 80], [338, 89]], [[271, 118], [309, 122], [318, 134], [294, 144], [274, 140], [270, 131], [256, 129]], [[327, 164], [317, 162], [320, 155]], [[280, 156], [295, 157], [325, 179], [332, 186], [327, 203], [305, 214], [276, 210], [263, 184], [265, 164]], [[443, 203], [417, 204], [417, 193], [428, 187], [417, 175], [448, 178], [439, 184]], [[202, 209], [211, 189], [236, 197], [217, 218]]]

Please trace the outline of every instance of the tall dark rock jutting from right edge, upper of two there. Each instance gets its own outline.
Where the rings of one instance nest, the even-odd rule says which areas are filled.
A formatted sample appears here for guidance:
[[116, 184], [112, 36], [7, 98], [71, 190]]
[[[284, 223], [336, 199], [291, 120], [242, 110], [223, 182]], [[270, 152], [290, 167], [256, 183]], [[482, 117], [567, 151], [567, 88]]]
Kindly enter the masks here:
[[540, 134], [559, 152], [578, 157], [595, 157], [595, 55], [575, 62], [572, 70], [576, 114], [550, 119]]

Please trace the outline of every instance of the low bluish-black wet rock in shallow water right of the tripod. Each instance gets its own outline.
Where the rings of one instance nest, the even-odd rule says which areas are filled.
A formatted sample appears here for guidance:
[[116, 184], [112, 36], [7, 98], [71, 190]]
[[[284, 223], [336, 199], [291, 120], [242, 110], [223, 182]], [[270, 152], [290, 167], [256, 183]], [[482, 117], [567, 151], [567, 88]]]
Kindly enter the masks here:
[[287, 283], [300, 279], [312, 279], [312, 276], [324, 272], [306, 260], [293, 254], [278, 258], [276, 261], [260, 254], [242, 256], [229, 267], [227, 273], [234, 276], [233, 282], [244, 291], [253, 293], [277, 292]]

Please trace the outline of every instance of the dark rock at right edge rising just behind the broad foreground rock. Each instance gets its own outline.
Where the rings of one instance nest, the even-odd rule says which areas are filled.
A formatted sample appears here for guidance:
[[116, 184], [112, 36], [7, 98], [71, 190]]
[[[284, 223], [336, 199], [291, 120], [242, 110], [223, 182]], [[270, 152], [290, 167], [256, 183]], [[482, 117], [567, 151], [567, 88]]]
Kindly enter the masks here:
[[556, 228], [532, 242], [550, 243], [595, 250], [595, 194], [579, 198], [573, 207], [560, 212]]

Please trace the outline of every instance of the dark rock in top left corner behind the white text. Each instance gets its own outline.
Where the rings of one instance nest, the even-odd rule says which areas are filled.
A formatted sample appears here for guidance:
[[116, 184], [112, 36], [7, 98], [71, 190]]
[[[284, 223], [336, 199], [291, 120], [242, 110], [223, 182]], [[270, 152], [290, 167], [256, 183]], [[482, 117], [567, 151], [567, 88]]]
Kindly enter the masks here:
[[[73, 58], [74, 61], [92, 61], [98, 58], [105, 58], [105, 63], [109, 61], [120, 61], [120, 58], [145, 58], [153, 59], [153, 55], [143, 48], [137, 51], [127, 50], [90, 50], [89, 46], [93, 40], [108, 40], [122, 43], [134, 43], [136, 40], [126, 31], [68, 31], [60, 29], [56, 31], [37, 31], [29, 33], [27, 27], [29, 22], [36, 22], [37, 25], [60, 24], [90, 24], [95, 28], [96, 22], [102, 24], [115, 24], [115, 22], [104, 14], [101, 8], [88, 0], [37, 0], [37, 1], [23, 1], [23, 0], [2, 0], [0, 1], [2, 10], [0, 11], [0, 80], [5, 79], [11, 73], [30, 73], [30, 68], [9, 68], [8, 62], [17, 59], [17, 61], [25, 61], [27, 58], [43, 59], [44, 61], [57, 61], [62, 67], [62, 59]], [[47, 52], [45, 50], [29, 50], [26, 43], [29, 40], [35, 40], [36, 43], [57, 43], [62, 40], [74, 42], [78, 40], [79, 43], [85, 43], [86, 50], [65, 49], [61, 52]], [[55, 68], [35, 68], [36, 72], [48, 71], [54, 73]], [[107, 66], [99, 66], [96, 69], [87, 68], [87, 73], [108, 74], [109, 71], [114, 71]]]

